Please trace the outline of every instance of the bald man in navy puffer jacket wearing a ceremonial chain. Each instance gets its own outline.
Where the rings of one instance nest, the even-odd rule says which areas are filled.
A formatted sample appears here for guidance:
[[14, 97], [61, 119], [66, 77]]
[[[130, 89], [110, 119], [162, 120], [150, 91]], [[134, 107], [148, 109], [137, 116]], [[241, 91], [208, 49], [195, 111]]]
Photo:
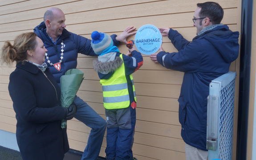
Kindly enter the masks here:
[[[91, 40], [69, 32], [65, 28], [65, 14], [59, 8], [49, 8], [45, 12], [44, 21], [34, 28], [34, 32], [48, 50], [45, 62], [58, 84], [60, 77], [67, 70], [77, 67], [78, 53], [97, 56], [91, 47]], [[118, 46], [120, 42], [126, 43], [126, 38], [135, 34], [134, 29], [128, 27], [119, 36], [111, 35], [114, 45]], [[82, 160], [96, 160], [102, 146], [106, 121], [78, 96], [75, 97], [74, 104], [77, 105], [74, 117], [92, 128]]]

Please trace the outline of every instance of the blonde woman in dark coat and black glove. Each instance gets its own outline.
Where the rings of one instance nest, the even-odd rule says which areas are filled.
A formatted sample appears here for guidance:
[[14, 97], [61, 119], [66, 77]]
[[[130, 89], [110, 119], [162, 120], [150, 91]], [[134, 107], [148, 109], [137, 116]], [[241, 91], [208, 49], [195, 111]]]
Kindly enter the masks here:
[[[10, 75], [9, 94], [16, 112], [16, 138], [24, 160], [63, 160], [69, 150], [61, 120], [70, 120], [76, 106], [60, 106], [60, 88], [45, 65], [47, 49], [33, 32], [5, 42], [1, 60], [16, 61]], [[47, 89], [45, 89], [47, 88]]]

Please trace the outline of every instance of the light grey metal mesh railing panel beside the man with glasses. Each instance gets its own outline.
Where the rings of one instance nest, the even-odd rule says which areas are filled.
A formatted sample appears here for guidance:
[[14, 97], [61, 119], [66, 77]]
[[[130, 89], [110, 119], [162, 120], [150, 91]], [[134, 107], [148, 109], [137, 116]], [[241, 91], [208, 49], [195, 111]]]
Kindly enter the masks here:
[[208, 160], [232, 159], [236, 72], [228, 72], [210, 83], [207, 103]]

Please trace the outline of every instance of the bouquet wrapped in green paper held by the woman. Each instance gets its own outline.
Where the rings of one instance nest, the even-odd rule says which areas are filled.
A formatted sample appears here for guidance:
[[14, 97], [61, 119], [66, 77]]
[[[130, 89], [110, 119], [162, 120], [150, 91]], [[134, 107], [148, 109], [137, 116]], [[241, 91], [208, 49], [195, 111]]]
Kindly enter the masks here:
[[[61, 106], [69, 107], [77, 94], [83, 81], [84, 73], [79, 69], [69, 69], [65, 75], [61, 76]], [[61, 121], [61, 128], [67, 127], [67, 120]]]

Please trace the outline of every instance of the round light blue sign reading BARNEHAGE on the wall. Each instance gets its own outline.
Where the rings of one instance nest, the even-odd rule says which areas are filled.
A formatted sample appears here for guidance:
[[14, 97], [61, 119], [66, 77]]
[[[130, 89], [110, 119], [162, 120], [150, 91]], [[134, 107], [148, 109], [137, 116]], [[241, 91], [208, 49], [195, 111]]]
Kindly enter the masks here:
[[135, 45], [139, 52], [150, 55], [158, 51], [162, 44], [162, 34], [154, 25], [146, 24], [138, 29]]

